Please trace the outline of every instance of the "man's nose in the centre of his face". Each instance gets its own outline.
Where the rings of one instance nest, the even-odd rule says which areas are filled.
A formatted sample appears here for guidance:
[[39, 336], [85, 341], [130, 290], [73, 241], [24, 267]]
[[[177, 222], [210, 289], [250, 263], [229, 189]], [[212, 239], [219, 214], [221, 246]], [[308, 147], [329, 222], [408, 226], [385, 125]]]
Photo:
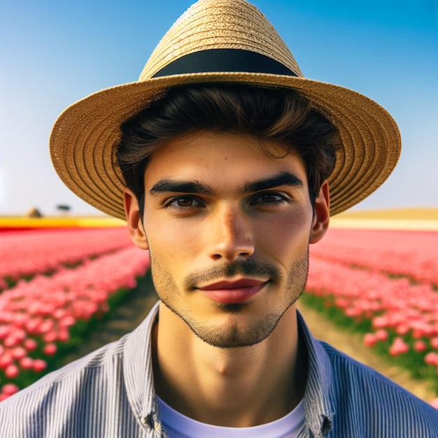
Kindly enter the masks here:
[[209, 227], [209, 251], [213, 260], [232, 262], [239, 257], [248, 258], [254, 253], [250, 218], [237, 209], [224, 208], [216, 213]]

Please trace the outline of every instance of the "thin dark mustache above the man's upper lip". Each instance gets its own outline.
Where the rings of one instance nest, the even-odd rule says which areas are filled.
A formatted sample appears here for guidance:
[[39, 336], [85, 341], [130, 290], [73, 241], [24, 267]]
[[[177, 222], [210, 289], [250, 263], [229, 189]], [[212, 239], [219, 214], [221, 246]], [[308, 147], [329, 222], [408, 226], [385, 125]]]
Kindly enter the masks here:
[[281, 278], [280, 271], [267, 263], [254, 260], [236, 260], [232, 263], [218, 264], [215, 267], [194, 271], [184, 279], [185, 290], [192, 290], [200, 283], [211, 283], [220, 278], [231, 278], [237, 274], [245, 276], [267, 276], [271, 281]]

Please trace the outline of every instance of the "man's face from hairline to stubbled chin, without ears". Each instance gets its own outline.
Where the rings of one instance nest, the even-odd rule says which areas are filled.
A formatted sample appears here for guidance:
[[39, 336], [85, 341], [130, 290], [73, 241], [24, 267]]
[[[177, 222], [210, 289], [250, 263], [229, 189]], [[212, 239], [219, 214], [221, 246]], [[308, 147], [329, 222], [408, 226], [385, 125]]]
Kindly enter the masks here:
[[[162, 302], [221, 348], [267, 338], [306, 284], [315, 223], [304, 162], [199, 132], [150, 157], [144, 232]], [[276, 143], [264, 146], [277, 150]]]

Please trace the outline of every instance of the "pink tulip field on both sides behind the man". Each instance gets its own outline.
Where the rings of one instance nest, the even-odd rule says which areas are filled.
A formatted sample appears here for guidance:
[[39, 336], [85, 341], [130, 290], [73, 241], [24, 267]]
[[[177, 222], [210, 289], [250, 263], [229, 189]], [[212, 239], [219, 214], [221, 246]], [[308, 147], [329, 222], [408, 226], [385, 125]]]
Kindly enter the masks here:
[[[125, 228], [0, 232], [0, 255], [0, 401], [57, 366], [149, 268]], [[330, 229], [302, 299], [438, 396], [438, 232]]]

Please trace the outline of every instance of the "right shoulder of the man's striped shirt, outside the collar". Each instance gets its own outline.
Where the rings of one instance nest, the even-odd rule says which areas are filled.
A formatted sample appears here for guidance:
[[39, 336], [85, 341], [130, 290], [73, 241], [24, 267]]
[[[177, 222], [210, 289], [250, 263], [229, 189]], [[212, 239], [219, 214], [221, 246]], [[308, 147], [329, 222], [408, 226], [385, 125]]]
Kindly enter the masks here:
[[[438, 438], [437, 409], [374, 369], [325, 342], [321, 344], [333, 370], [335, 417], [355, 418], [360, 427], [381, 432], [375, 436], [388, 436], [386, 434], [391, 430], [395, 434], [392, 436]], [[429, 435], [421, 435], [425, 433]]]

